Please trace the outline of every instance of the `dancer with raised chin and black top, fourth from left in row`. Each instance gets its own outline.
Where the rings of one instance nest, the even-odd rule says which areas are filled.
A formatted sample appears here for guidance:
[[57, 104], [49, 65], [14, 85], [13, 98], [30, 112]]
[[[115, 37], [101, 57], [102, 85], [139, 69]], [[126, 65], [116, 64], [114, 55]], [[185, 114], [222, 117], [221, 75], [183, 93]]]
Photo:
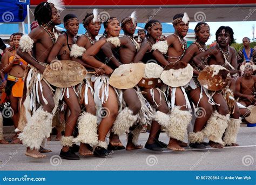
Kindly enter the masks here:
[[[92, 76], [93, 89], [95, 91], [95, 101], [97, 112], [105, 113], [102, 115], [102, 121], [98, 126], [98, 144], [93, 155], [104, 157], [111, 152], [107, 150], [107, 142], [105, 141], [107, 133], [113, 126], [118, 114], [118, 98], [117, 92], [112, 86], [109, 85], [109, 75], [113, 69], [106, 65], [108, 58], [101, 50], [102, 46], [107, 42], [107, 39], [118, 38], [120, 33], [120, 22], [115, 17], [110, 17], [104, 23], [105, 33], [101, 39], [87, 49], [82, 57], [86, 64], [104, 70], [103, 75]], [[106, 61], [107, 60], [107, 61]]]

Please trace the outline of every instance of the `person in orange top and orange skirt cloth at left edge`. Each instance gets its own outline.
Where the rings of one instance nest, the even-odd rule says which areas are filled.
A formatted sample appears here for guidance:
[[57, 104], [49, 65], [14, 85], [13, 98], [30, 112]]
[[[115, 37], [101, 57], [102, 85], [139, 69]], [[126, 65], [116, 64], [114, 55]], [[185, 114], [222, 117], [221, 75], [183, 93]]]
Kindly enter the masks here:
[[[15, 128], [18, 127], [19, 121], [19, 100], [23, 94], [24, 87], [24, 70], [28, 63], [19, 57], [16, 53], [19, 47], [19, 40], [22, 33], [15, 33], [12, 37], [13, 50], [6, 52], [6, 57], [3, 60], [3, 72], [8, 74], [5, 93], [9, 96], [12, 108], [12, 120], [14, 121]], [[12, 143], [19, 143], [18, 133], [12, 138]]]

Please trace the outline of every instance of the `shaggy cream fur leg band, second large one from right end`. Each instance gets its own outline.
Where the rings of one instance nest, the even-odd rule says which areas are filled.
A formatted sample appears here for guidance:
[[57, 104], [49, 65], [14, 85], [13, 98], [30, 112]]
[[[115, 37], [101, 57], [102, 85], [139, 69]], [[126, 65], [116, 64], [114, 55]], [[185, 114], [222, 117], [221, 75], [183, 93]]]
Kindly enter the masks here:
[[207, 121], [207, 125], [204, 128], [206, 137], [216, 143], [224, 145], [222, 136], [227, 128], [227, 122], [230, 120], [230, 114], [221, 115], [218, 112], [214, 112]]

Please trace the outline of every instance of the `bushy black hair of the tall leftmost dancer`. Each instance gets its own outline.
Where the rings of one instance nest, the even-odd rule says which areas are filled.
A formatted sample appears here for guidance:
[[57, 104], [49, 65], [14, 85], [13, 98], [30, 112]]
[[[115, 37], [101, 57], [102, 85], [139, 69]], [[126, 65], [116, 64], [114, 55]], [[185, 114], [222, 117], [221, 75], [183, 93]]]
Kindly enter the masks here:
[[49, 23], [51, 21], [51, 6], [48, 2], [42, 2], [36, 6], [35, 20], [37, 20], [39, 25]]

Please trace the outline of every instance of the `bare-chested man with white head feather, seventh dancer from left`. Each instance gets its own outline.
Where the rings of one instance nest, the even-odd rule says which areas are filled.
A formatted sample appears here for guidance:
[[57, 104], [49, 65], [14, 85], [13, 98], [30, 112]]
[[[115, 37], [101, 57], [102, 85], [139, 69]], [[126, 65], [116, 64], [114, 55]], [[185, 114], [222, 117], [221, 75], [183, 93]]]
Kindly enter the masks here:
[[[184, 14], [179, 13], [173, 17], [174, 34], [166, 37], [163, 44], [156, 43], [154, 46], [155, 51], [153, 52], [153, 56], [156, 57], [157, 61], [164, 67], [170, 63], [179, 64], [185, 54], [186, 41], [184, 37], [187, 35], [189, 18]], [[185, 139], [187, 126], [192, 119], [191, 113], [187, 111], [189, 102], [186, 102], [186, 93], [184, 93], [185, 90], [183, 91], [182, 88], [183, 87], [177, 87], [168, 90], [169, 100], [173, 99], [172, 96], [175, 95], [175, 102], [172, 102], [173, 107], [170, 116], [170, 125], [166, 132], [170, 137], [167, 148], [180, 151], [185, 150], [182, 146], [187, 146], [186, 143], [183, 143], [183, 140]], [[172, 90], [176, 90], [176, 92], [172, 94]], [[174, 103], [176, 106], [174, 106]]]

